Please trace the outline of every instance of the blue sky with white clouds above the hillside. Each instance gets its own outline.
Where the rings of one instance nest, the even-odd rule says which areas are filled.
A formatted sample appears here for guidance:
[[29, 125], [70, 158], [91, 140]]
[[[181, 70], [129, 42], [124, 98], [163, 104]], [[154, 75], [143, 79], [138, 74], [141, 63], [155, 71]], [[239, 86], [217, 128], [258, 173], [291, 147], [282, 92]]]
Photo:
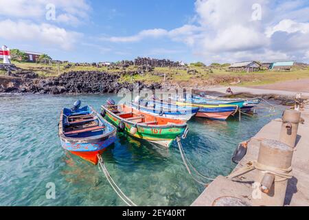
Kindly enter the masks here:
[[[306, 0], [0, 0], [0, 44], [73, 62], [309, 63]], [[55, 12], [55, 13], [54, 13]]]

